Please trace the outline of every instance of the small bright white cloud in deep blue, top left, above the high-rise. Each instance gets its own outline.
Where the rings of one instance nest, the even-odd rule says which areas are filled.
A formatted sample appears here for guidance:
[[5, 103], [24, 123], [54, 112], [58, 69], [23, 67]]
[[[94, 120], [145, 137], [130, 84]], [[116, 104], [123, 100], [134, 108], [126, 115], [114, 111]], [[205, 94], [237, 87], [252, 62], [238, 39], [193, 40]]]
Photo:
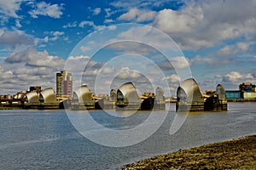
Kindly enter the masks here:
[[32, 15], [32, 18], [38, 18], [38, 15], [44, 15], [55, 19], [59, 19], [63, 14], [61, 11], [62, 9], [62, 5], [45, 3], [43, 1], [40, 3], [36, 3], [35, 9], [29, 11], [29, 14]]

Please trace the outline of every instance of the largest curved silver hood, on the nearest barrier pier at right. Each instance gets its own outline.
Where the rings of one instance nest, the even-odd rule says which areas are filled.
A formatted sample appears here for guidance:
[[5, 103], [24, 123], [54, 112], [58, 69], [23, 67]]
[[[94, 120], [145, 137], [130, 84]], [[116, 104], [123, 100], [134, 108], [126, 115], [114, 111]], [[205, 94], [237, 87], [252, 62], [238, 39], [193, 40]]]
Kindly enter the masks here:
[[194, 78], [189, 78], [181, 83], [179, 88], [177, 88], [177, 98], [188, 103], [204, 102], [201, 91]]

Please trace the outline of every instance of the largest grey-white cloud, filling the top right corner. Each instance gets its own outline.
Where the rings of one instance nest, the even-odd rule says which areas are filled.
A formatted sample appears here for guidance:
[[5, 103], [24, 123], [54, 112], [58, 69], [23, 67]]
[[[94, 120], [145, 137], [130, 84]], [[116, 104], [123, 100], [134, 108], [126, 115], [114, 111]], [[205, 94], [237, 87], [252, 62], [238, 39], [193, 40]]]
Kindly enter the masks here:
[[255, 5], [253, 0], [189, 1], [177, 11], [161, 10], [154, 26], [184, 49], [212, 47], [227, 39], [255, 36]]

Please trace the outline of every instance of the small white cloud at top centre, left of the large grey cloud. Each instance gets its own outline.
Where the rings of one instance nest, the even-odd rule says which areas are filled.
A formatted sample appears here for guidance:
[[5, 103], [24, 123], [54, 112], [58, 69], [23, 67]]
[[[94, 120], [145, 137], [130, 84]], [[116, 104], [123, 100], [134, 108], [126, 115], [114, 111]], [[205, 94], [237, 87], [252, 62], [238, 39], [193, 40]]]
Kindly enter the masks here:
[[143, 22], [153, 20], [156, 12], [145, 9], [131, 8], [128, 13], [119, 16], [118, 20], [136, 20]]

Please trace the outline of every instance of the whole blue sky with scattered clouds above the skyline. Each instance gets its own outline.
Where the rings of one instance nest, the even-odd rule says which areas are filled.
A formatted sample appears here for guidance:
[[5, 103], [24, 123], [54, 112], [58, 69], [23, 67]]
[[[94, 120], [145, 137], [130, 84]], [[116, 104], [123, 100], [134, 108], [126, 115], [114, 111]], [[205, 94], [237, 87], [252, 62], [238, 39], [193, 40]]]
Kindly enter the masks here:
[[[103, 93], [125, 81], [167, 81], [175, 95], [177, 69], [191, 71], [202, 92], [218, 83], [227, 90], [255, 84], [255, 9], [255, 0], [1, 0], [0, 94], [55, 89], [55, 73], [66, 68], [73, 88], [85, 83], [95, 90], [97, 82], [108, 86], [98, 89]], [[170, 46], [163, 35], [172, 38]]]

